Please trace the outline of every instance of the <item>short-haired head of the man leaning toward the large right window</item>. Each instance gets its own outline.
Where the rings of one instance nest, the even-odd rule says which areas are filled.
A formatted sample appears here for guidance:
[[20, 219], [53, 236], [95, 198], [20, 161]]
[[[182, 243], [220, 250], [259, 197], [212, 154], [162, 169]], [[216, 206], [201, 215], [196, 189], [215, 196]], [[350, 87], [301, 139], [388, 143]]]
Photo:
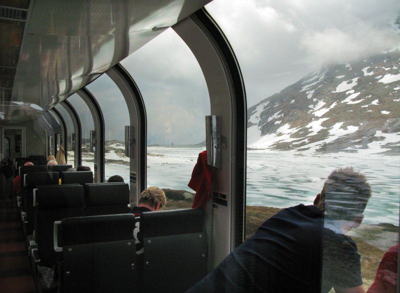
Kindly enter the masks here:
[[352, 167], [332, 171], [321, 192], [324, 215], [331, 220], [349, 220], [360, 216], [371, 196], [371, 187], [363, 174]]

